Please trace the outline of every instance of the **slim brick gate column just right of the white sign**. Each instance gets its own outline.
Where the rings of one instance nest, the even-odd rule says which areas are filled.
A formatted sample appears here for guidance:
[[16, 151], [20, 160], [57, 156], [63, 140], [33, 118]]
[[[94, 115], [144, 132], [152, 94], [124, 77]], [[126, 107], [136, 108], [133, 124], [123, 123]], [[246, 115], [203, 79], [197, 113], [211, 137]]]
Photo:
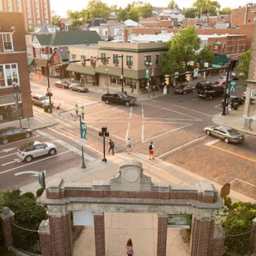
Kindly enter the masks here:
[[104, 213], [94, 214], [94, 236], [96, 256], [105, 256]]

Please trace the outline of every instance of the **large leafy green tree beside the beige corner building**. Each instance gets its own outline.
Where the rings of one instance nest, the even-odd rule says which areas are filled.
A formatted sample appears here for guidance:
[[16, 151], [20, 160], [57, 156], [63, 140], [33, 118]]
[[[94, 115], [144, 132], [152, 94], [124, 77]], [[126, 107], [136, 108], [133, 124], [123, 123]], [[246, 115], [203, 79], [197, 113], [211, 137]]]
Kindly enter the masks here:
[[192, 70], [186, 66], [182, 69], [182, 61], [196, 61], [197, 51], [200, 49], [200, 38], [197, 36], [194, 26], [181, 29], [168, 42], [169, 51], [162, 58], [162, 72], [164, 74], [174, 74], [174, 72], [184, 72]]

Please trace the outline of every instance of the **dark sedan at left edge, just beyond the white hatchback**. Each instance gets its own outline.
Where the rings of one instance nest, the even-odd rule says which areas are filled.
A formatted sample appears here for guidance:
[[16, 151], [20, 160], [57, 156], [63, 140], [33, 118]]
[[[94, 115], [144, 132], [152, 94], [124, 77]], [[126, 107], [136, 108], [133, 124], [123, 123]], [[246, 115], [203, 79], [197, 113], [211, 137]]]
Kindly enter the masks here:
[[0, 129], [0, 141], [7, 144], [12, 140], [19, 140], [22, 138], [30, 138], [32, 134], [31, 129], [7, 127]]

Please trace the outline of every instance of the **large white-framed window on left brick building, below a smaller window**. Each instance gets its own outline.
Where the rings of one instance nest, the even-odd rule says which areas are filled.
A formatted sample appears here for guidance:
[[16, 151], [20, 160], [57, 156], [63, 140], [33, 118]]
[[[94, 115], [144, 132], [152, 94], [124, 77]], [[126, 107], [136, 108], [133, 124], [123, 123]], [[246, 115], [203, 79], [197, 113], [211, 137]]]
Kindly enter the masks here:
[[13, 83], [20, 83], [18, 75], [18, 64], [0, 65], [0, 86], [1, 88], [13, 86]]

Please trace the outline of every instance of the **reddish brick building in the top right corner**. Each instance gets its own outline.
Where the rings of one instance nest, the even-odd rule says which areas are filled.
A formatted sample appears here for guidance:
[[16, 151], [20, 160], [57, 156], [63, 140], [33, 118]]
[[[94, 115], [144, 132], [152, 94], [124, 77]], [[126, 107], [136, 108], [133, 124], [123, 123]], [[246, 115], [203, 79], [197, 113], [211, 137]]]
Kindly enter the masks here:
[[233, 9], [230, 15], [231, 26], [253, 25], [255, 22], [255, 5], [246, 5]]

